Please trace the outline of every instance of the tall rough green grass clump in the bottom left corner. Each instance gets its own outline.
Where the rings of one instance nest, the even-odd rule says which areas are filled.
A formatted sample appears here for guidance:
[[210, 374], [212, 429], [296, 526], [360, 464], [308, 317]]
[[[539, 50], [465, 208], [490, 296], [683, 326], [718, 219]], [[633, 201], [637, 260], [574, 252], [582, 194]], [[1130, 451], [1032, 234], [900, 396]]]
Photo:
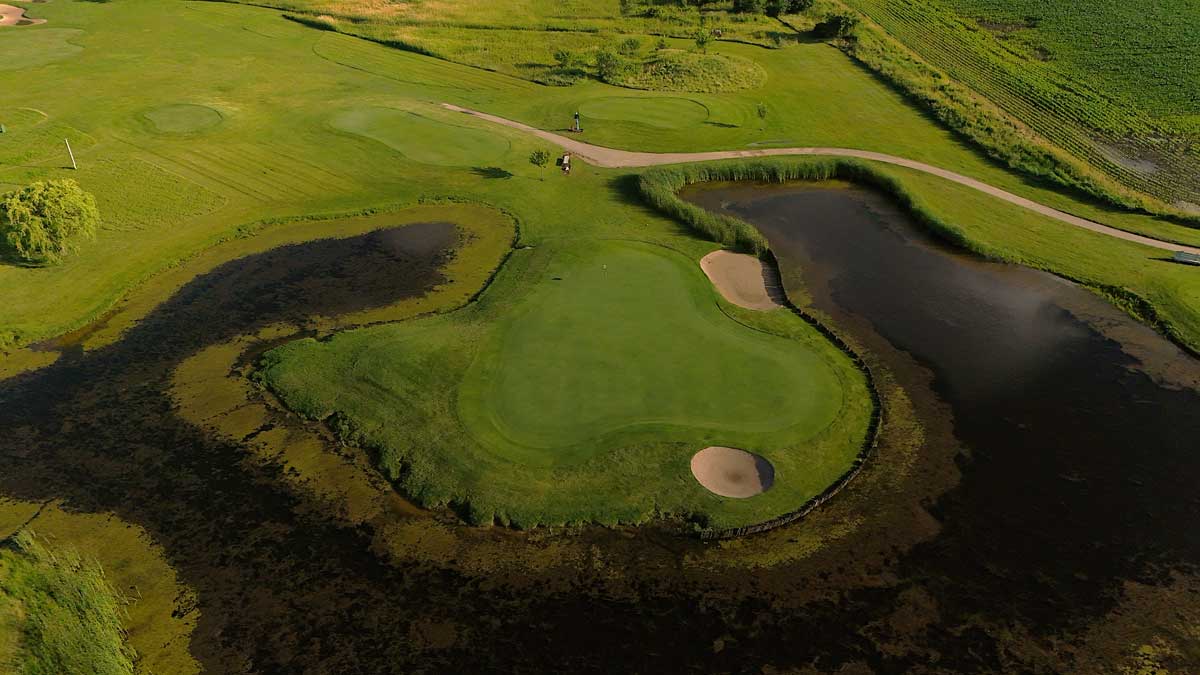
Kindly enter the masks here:
[[20, 635], [7, 664], [14, 674], [133, 673], [125, 601], [103, 569], [70, 549], [52, 551], [30, 531], [0, 543], [0, 621], [5, 617]]

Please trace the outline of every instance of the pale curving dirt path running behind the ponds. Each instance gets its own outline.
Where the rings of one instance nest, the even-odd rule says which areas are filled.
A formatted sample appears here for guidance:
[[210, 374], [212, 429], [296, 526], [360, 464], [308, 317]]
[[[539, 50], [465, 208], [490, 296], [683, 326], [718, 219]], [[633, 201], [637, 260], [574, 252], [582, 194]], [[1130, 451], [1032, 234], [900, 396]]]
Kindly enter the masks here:
[[476, 117], [491, 123], [502, 124], [512, 129], [520, 129], [521, 131], [532, 133], [545, 141], [550, 141], [556, 145], [576, 154], [589, 162], [607, 167], [607, 168], [630, 168], [630, 167], [650, 167], [658, 165], [678, 165], [684, 162], [707, 162], [712, 160], [733, 160], [738, 157], [774, 157], [781, 155], [820, 155], [820, 156], [832, 156], [832, 157], [856, 157], [859, 160], [871, 160], [875, 162], [883, 162], [887, 165], [895, 165], [900, 167], [907, 167], [923, 173], [936, 175], [938, 178], [944, 178], [952, 183], [958, 183], [959, 185], [965, 185], [979, 192], [991, 195], [997, 199], [1002, 199], [1010, 204], [1016, 204], [1018, 207], [1028, 209], [1031, 211], [1042, 214], [1046, 217], [1051, 217], [1057, 221], [1066, 222], [1067, 225], [1073, 225], [1075, 227], [1081, 227], [1084, 229], [1090, 229], [1092, 232], [1098, 232], [1100, 234], [1106, 234], [1109, 237], [1115, 237], [1117, 239], [1124, 239], [1126, 241], [1134, 241], [1136, 244], [1142, 244], [1145, 246], [1153, 246], [1154, 249], [1162, 249], [1164, 251], [1184, 251], [1188, 253], [1200, 255], [1200, 249], [1195, 246], [1184, 246], [1183, 244], [1172, 244], [1170, 241], [1162, 241], [1159, 239], [1153, 239], [1151, 237], [1144, 237], [1141, 234], [1134, 234], [1132, 232], [1126, 232], [1123, 229], [1117, 229], [1115, 227], [1109, 227], [1106, 225], [1100, 225], [1098, 222], [1082, 219], [1079, 216], [1073, 216], [1068, 213], [1060, 211], [1046, 207], [1045, 204], [1039, 204], [1032, 199], [1026, 199], [1025, 197], [1019, 197], [1012, 192], [1001, 190], [1000, 187], [994, 187], [986, 183], [968, 178], [960, 173], [954, 173], [943, 168], [935, 167], [932, 165], [926, 165], [924, 162], [917, 162], [913, 160], [906, 160], [904, 157], [898, 157], [895, 155], [884, 155], [883, 153], [871, 153], [870, 150], [853, 150], [850, 148], [766, 148], [760, 150], [714, 150], [709, 153], [635, 153], [630, 150], [617, 150], [613, 148], [604, 148], [600, 145], [592, 145], [590, 143], [583, 143], [575, 141], [572, 138], [566, 138], [550, 131], [532, 127], [527, 124], [521, 124], [510, 119], [500, 118], [497, 115], [490, 115], [487, 113], [480, 113], [479, 110], [472, 110], [469, 108], [461, 108], [450, 103], [443, 103], [444, 108], [455, 110], [458, 113], [464, 113], [468, 115]]

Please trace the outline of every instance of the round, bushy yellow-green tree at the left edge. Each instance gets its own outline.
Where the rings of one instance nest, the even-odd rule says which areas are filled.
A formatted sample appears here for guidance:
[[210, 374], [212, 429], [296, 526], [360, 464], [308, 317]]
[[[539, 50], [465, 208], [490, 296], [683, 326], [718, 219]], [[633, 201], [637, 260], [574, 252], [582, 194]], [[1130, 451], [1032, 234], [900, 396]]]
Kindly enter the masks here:
[[0, 234], [26, 262], [62, 262], [98, 226], [96, 199], [73, 180], [32, 183], [0, 201]]

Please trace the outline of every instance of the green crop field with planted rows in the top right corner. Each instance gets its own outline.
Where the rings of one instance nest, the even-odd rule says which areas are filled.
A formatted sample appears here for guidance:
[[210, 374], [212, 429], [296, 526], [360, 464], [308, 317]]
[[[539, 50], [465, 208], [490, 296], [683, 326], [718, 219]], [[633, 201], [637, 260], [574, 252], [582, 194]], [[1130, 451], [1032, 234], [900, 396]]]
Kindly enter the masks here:
[[1194, 4], [850, 0], [887, 32], [1121, 183], [1200, 204]]

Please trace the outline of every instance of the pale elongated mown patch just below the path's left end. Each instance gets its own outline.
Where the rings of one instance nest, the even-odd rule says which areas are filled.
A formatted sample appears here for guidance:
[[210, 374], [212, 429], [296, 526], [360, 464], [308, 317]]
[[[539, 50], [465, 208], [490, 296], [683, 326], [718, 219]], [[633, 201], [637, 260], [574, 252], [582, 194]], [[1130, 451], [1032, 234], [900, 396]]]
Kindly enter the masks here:
[[361, 106], [330, 120], [334, 129], [378, 141], [406, 157], [436, 166], [480, 166], [509, 150], [509, 142], [493, 131], [434, 120], [416, 113]]

